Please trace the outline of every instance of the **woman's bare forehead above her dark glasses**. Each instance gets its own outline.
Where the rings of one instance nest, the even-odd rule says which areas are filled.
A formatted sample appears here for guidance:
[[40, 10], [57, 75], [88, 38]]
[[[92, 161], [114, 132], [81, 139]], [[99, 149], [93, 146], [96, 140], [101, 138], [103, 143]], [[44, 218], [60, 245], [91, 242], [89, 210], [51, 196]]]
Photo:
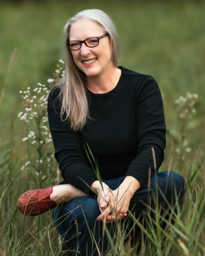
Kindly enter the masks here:
[[103, 35], [104, 29], [92, 20], [80, 19], [71, 25], [69, 39], [84, 40], [88, 37]]

